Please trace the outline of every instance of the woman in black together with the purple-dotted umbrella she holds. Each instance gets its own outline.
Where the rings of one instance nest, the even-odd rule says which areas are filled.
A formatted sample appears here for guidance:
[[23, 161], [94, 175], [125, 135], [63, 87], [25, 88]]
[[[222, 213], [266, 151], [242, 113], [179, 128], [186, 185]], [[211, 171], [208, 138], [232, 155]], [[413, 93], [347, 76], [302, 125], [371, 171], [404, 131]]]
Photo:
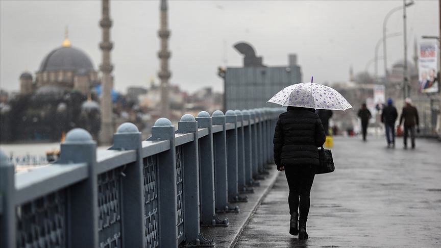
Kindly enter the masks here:
[[[285, 87], [269, 103], [288, 106], [280, 114], [274, 133], [274, 161], [285, 171], [289, 195], [289, 233], [308, 238], [309, 195], [316, 168], [320, 165], [317, 147], [325, 143], [325, 130], [315, 109], [346, 110], [348, 101], [331, 87], [311, 82]], [[328, 118], [329, 119], [329, 118]]]

